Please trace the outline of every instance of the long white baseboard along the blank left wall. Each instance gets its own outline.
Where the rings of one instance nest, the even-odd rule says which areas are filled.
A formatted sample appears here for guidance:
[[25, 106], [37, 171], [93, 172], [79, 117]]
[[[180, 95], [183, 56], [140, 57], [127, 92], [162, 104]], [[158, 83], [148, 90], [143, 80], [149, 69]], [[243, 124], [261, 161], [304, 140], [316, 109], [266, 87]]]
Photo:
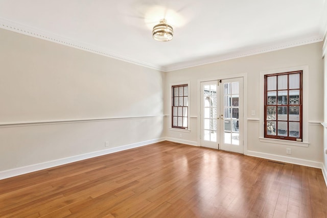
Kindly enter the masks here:
[[40, 171], [41, 169], [51, 168], [54, 166], [59, 166], [59, 165], [67, 164], [67, 163], [85, 160], [85, 159], [92, 158], [92, 157], [98, 157], [98, 156], [102, 156], [102, 155], [106, 155], [106, 154], [124, 151], [127, 149], [142, 147], [142, 146], [146, 146], [147, 144], [151, 144], [151, 143], [155, 143], [155, 142], [159, 142], [159, 141], [165, 141], [165, 138], [158, 138], [158, 139], [152, 139], [152, 140], [148, 140], [148, 141], [126, 144], [125, 146], [120, 146], [120, 147], [116, 147], [116, 148], [91, 152], [91, 153], [82, 154], [82, 155], [76, 155], [76, 156], [72, 156], [72, 157], [37, 163], [37, 164], [33, 164], [33, 165], [28, 165], [28, 166], [22, 166], [22, 167], [18, 167], [18, 168], [14, 168], [14, 169], [8, 169], [7, 171], [0, 172], [0, 180], [14, 177], [14, 176], [19, 176], [22, 174], [32, 173], [35, 171]]

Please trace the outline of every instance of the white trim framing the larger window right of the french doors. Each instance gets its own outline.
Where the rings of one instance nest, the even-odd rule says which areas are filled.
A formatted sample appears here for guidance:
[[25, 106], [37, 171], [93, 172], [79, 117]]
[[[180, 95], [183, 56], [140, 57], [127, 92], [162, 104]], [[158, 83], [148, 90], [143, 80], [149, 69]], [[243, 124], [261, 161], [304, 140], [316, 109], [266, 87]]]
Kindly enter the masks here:
[[[302, 70], [302, 142], [283, 139], [273, 139], [264, 137], [264, 100], [265, 100], [265, 75], [279, 74], [282, 72], [291, 72]], [[287, 146], [309, 147], [309, 66], [296, 66], [283, 69], [267, 70], [260, 72], [260, 141], [285, 144]]]

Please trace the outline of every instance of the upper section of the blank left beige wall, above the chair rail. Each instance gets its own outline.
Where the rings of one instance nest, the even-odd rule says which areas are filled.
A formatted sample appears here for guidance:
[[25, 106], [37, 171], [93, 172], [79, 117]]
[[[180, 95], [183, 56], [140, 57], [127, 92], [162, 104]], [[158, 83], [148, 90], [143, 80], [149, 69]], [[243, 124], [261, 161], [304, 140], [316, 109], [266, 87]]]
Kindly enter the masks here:
[[0, 31], [1, 123], [162, 114], [161, 72]]

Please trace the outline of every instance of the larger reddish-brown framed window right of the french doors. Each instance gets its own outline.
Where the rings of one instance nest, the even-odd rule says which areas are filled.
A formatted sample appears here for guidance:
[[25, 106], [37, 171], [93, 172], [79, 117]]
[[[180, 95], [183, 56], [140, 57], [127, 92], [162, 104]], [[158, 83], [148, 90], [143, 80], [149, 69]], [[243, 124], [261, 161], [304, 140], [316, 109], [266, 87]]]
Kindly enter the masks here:
[[302, 71], [265, 75], [265, 138], [302, 141]]

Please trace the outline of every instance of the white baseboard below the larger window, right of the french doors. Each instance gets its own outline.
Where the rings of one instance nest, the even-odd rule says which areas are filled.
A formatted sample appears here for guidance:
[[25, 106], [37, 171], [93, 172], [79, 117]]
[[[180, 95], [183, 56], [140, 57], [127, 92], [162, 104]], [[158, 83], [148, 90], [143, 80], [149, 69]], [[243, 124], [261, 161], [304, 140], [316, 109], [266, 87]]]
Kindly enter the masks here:
[[323, 167], [321, 162], [316, 162], [316, 161], [312, 161], [312, 160], [304, 160], [304, 159], [299, 159], [299, 158], [294, 158], [294, 157], [285, 157], [285, 156], [281, 156], [281, 155], [267, 154], [267, 153], [254, 152], [254, 151], [247, 151], [247, 155], [253, 156], [253, 157], [265, 158], [265, 159], [269, 159], [269, 160], [286, 162], [286, 163], [293, 163], [293, 164], [302, 165], [302, 166], [310, 166], [310, 167], [319, 168], [319, 169], [322, 169], [322, 167]]

